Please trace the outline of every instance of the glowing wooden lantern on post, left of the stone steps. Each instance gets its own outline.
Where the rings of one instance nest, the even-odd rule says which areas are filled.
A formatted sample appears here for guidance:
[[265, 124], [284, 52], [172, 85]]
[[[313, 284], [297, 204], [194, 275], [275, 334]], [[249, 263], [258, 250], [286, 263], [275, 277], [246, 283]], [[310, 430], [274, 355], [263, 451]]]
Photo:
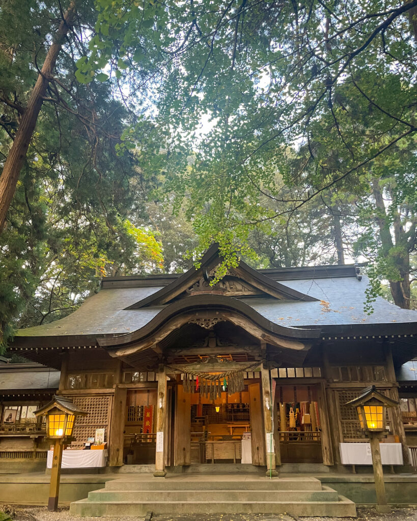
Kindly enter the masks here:
[[72, 436], [75, 417], [87, 414], [63, 396], [53, 396], [51, 402], [35, 411], [35, 416], [46, 416], [46, 437], [55, 440], [52, 457], [51, 485], [48, 510], [58, 508], [59, 480], [61, 476], [64, 442]]

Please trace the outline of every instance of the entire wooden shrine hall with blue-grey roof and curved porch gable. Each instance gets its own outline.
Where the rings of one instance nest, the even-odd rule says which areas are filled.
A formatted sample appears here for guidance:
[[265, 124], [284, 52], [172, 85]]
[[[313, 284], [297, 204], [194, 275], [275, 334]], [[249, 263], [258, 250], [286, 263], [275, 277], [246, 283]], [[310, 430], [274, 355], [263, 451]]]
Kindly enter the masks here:
[[[17, 332], [11, 351], [60, 370], [57, 394], [87, 412], [73, 448], [104, 429], [107, 465], [360, 465], [346, 403], [417, 356], [417, 312], [381, 297], [364, 313], [354, 265], [254, 270], [213, 283], [218, 247], [185, 274], [103, 278], [76, 312]], [[408, 465], [399, 407], [386, 460]], [[65, 452], [65, 451], [64, 451]], [[384, 457], [384, 456], [383, 456]], [[359, 459], [358, 459], [359, 458]]]

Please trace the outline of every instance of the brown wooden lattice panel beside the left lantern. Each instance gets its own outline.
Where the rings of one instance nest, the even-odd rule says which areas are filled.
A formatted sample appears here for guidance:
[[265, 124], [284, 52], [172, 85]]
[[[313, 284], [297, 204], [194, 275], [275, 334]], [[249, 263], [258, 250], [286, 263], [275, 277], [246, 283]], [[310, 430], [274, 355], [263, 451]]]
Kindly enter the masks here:
[[[72, 397], [71, 397], [72, 398]], [[87, 438], [95, 436], [95, 429], [104, 428], [104, 440], [108, 441], [108, 424], [111, 415], [111, 396], [77, 396], [73, 402], [86, 416], [77, 416], [73, 430], [73, 437], [77, 442], [85, 442]]]

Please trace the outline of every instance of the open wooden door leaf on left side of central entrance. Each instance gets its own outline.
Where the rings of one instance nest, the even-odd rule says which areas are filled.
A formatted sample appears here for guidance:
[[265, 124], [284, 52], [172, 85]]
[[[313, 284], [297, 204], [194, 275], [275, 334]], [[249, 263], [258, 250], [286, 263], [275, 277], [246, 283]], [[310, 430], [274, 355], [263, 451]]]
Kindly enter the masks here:
[[191, 394], [177, 385], [175, 408], [175, 466], [191, 465]]

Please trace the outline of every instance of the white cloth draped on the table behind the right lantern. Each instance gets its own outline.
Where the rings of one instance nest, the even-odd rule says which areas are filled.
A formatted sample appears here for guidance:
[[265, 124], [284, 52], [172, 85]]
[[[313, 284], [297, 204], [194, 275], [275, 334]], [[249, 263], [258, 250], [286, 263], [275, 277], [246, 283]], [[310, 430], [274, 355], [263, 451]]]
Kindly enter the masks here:
[[[402, 465], [401, 443], [379, 443], [383, 465]], [[370, 443], [339, 443], [342, 465], [372, 465]]]

